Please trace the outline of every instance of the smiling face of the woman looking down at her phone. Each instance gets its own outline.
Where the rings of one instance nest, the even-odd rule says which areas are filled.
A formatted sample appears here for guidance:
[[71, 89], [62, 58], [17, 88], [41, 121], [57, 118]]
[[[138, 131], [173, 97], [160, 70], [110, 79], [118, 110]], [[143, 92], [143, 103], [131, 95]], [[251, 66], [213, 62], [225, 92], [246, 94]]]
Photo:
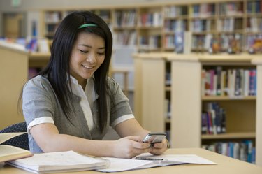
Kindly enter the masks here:
[[103, 64], [105, 59], [105, 41], [96, 34], [81, 32], [73, 45], [70, 71], [71, 75], [84, 85], [87, 78]]

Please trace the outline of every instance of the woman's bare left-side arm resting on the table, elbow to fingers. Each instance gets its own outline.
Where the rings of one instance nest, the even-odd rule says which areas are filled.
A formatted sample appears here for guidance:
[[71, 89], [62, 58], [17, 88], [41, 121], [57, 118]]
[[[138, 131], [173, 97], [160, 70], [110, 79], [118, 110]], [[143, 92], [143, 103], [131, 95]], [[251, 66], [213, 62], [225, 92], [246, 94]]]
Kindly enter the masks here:
[[51, 123], [38, 124], [30, 129], [36, 143], [43, 152], [73, 150], [96, 157], [131, 158], [148, 152], [148, 143], [140, 143], [139, 136], [127, 136], [119, 140], [88, 140], [66, 134], [59, 134], [57, 127]]

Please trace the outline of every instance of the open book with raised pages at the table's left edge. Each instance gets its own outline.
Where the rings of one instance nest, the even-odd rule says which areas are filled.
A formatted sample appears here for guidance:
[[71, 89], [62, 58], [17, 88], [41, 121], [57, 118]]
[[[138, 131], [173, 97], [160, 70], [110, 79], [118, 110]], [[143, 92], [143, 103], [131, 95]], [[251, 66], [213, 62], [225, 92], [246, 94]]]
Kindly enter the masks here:
[[[19, 133], [0, 133], [0, 144], [6, 142], [15, 136], [20, 136], [25, 132]], [[31, 157], [33, 154], [28, 150], [24, 150], [19, 147], [14, 147], [11, 145], [0, 145], [0, 163], [13, 160], [13, 159], [20, 159], [24, 157]]]

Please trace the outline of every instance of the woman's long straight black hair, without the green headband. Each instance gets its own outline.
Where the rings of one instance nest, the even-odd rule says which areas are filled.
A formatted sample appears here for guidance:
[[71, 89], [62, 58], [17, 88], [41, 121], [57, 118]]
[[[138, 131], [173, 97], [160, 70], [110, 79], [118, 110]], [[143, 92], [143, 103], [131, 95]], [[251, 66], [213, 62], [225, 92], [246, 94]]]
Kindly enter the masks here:
[[[96, 27], [84, 27], [79, 29], [82, 24], [96, 24]], [[38, 75], [46, 75], [50, 81], [54, 92], [57, 95], [64, 115], [70, 120], [73, 115], [73, 97], [71, 91], [70, 74], [71, 52], [75, 40], [80, 32], [87, 32], [101, 36], [105, 41], [105, 60], [103, 64], [94, 73], [94, 86], [96, 93], [99, 95], [99, 126], [101, 131], [105, 129], [108, 115], [108, 83], [107, 76], [112, 55], [112, 33], [101, 17], [89, 11], [75, 11], [68, 14], [61, 21], [51, 46], [51, 57], [48, 65]], [[69, 85], [68, 85], [69, 79]], [[109, 94], [110, 95], [110, 94]]]

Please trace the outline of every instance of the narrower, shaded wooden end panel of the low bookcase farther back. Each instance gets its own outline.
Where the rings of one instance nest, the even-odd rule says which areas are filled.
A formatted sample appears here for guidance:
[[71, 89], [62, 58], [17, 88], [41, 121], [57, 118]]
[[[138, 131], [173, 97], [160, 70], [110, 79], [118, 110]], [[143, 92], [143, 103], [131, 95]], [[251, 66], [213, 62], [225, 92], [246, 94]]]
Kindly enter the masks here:
[[142, 62], [143, 127], [149, 131], [165, 131], [165, 61], [143, 59]]

